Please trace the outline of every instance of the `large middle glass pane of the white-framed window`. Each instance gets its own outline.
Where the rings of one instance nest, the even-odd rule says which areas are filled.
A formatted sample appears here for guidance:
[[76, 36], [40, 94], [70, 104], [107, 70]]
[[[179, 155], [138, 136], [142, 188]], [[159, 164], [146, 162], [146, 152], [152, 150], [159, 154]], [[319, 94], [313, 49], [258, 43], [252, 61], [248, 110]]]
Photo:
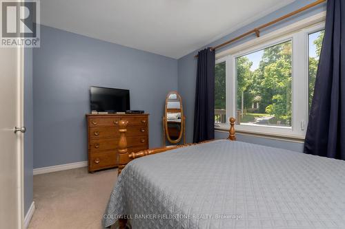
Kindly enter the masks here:
[[291, 127], [292, 41], [235, 58], [237, 124]]

